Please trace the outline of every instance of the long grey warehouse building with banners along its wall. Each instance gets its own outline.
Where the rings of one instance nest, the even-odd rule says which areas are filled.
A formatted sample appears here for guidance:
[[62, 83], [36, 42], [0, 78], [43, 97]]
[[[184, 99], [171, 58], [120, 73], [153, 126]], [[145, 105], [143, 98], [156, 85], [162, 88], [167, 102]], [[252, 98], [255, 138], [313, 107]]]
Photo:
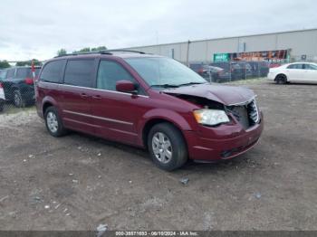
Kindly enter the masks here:
[[229, 60], [317, 61], [317, 29], [165, 43], [131, 47], [129, 50], [168, 56], [183, 63]]

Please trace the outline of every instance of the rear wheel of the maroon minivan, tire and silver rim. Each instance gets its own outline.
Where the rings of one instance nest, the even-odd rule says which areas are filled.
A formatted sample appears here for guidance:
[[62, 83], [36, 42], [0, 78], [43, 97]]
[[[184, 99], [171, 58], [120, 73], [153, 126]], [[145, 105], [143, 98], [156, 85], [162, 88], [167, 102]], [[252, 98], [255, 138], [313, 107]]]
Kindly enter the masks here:
[[66, 129], [62, 125], [62, 119], [55, 107], [51, 106], [45, 110], [44, 120], [47, 131], [53, 137], [62, 137], [66, 134]]

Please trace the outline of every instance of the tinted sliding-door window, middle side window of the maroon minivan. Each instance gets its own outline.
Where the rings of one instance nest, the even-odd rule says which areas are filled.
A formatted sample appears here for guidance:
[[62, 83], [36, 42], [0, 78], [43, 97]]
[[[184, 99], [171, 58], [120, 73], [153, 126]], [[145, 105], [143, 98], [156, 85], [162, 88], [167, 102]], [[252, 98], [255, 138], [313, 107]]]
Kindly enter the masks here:
[[64, 83], [79, 87], [92, 87], [94, 60], [68, 61]]

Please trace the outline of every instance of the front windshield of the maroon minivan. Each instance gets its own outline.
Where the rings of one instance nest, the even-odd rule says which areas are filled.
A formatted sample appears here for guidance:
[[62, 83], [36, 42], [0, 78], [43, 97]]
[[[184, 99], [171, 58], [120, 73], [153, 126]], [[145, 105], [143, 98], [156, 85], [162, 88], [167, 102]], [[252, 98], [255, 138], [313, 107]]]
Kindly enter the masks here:
[[207, 83], [195, 71], [172, 59], [129, 58], [125, 61], [153, 88], [172, 88]]

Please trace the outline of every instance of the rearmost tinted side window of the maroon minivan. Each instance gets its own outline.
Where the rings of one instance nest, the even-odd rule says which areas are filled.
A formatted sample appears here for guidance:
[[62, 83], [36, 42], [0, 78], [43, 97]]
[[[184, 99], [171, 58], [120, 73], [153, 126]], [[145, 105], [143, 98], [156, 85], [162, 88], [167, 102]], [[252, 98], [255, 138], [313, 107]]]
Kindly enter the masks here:
[[65, 60], [48, 62], [41, 73], [40, 80], [58, 83], [62, 81], [62, 70], [65, 65]]

